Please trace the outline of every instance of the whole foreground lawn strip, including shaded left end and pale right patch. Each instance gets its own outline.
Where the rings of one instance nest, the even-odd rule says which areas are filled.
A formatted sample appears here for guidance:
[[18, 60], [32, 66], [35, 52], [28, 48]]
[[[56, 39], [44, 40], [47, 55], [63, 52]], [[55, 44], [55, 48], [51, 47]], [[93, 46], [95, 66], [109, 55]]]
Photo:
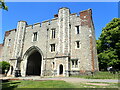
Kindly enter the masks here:
[[[32, 81], [19, 80], [10, 81], [9, 85], [3, 88], [118, 88], [117, 83], [105, 82], [84, 82], [84, 83], [68, 83], [65, 81]], [[11, 84], [10, 84], [11, 83]], [[101, 85], [102, 84], [102, 85]]]

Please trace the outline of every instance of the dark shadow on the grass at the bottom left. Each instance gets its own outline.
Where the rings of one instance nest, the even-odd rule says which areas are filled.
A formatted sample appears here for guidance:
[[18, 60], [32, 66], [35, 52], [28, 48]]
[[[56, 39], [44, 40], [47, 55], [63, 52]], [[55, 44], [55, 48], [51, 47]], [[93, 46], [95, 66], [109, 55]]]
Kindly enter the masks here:
[[1, 90], [13, 90], [14, 88], [17, 88], [18, 83], [20, 83], [20, 82], [12, 82], [9, 80], [2, 80], [0, 87], [2, 87]]

